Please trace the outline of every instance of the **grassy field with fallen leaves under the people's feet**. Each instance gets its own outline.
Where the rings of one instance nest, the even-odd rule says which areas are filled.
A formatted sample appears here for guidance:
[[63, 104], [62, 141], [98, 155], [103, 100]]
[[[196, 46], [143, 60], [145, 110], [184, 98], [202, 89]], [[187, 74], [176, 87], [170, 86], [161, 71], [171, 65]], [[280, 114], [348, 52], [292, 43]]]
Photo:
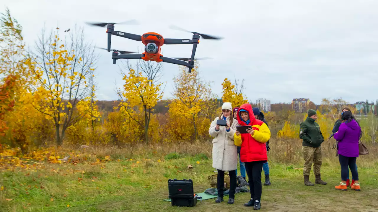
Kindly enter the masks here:
[[[150, 157], [149, 157], [150, 156]], [[194, 192], [209, 187], [212, 161], [205, 154], [167, 154], [113, 158], [100, 164], [46, 163], [36, 171], [1, 172], [1, 211], [236, 211], [252, 210], [243, 203], [249, 193], [236, 194], [233, 205], [215, 199], [195, 207], [173, 207], [168, 196], [169, 178], [192, 179]], [[358, 158], [361, 192], [338, 191], [339, 164], [324, 160], [325, 186], [305, 186], [301, 164], [270, 164], [271, 186], [263, 187], [261, 211], [378, 211], [378, 167]], [[33, 162], [32, 162], [33, 163]], [[191, 164], [193, 168], [188, 169]], [[313, 173], [311, 181], [314, 182]]]

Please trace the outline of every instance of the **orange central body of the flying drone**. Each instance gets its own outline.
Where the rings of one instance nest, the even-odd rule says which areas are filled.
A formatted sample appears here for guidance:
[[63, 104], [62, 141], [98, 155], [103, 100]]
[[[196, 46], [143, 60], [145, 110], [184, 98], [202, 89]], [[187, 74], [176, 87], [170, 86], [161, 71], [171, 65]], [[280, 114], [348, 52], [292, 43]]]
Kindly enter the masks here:
[[[161, 46], [163, 46], [164, 44], [164, 38], [163, 36], [161, 36], [160, 34], [157, 34], [156, 32], [147, 32], [145, 34], [142, 35], [142, 43], [145, 45], [145, 51], [144, 51], [144, 57], [142, 57], [142, 60], [144, 61], [155, 61], [155, 62], [161, 62], [163, 61], [162, 59], [160, 59], [161, 55], [160, 54], [160, 51], [161, 51]], [[147, 45], [151, 44], [151, 43], [154, 43], [156, 45], [156, 48], [157, 49], [157, 52], [156, 53], [149, 53], [146, 51], [146, 47]]]

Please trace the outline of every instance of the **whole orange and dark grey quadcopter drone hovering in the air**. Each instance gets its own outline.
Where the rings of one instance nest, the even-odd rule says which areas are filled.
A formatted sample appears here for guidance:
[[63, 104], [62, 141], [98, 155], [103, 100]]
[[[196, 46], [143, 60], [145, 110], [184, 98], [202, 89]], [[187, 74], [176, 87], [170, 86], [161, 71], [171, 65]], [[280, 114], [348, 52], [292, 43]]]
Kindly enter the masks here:
[[[116, 60], [118, 59], [141, 59], [144, 61], [155, 61], [157, 63], [165, 62], [165, 63], [183, 65], [189, 68], [189, 73], [192, 71], [192, 68], [194, 68], [194, 55], [197, 49], [197, 45], [198, 43], [200, 43], [200, 37], [202, 37], [203, 39], [215, 39], [215, 40], [222, 39], [220, 37], [214, 37], [211, 35], [201, 34], [198, 32], [191, 32], [193, 33], [192, 39], [177, 39], [177, 38], [163, 38], [163, 36], [155, 32], [147, 32], [147, 33], [144, 33], [143, 35], [136, 35], [136, 34], [114, 30], [115, 24], [135, 24], [135, 23], [136, 23], [135, 20], [130, 20], [128, 22], [122, 22], [122, 23], [88, 23], [88, 24], [93, 25], [93, 26], [100, 26], [100, 27], [107, 26], [106, 32], [108, 34], [108, 48], [105, 50], [107, 50], [108, 52], [113, 51], [112, 53], [113, 64], [116, 64]], [[185, 29], [178, 28], [176, 26], [171, 26], [170, 28], [185, 31], [185, 32], [190, 32]], [[116, 49], [110, 49], [112, 35], [128, 38], [131, 40], [142, 41], [142, 43], [144, 44], [144, 53], [132, 54], [136, 52], [118, 51]], [[163, 57], [163, 55], [160, 54], [160, 51], [161, 51], [161, 46], [163, 46], [164, 44], [166, 45], [193, 44], [192, 56], [191, 58]], [[101, 48], [101, 49], [104, 49], [104, 48]]]

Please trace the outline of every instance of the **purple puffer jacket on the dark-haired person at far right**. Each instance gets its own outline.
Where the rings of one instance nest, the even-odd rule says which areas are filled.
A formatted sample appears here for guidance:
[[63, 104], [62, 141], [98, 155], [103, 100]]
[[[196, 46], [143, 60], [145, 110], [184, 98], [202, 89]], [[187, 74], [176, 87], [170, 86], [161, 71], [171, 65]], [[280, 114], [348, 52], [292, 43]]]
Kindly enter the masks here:
[[344, 122], [340, 124], [339, 131], [333, 135], [338, 143], [339, 155], [345, 157], [358, 157], [358, 139], [361, 127], [357, 121]]

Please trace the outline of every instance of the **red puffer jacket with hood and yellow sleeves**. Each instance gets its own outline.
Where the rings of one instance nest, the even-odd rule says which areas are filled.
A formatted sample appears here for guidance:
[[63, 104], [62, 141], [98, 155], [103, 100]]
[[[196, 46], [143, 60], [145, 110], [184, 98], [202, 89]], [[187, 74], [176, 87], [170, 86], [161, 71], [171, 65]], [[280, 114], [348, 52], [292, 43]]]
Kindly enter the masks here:
[[[240, 111], [244, 109], [248, 111], [250, 123], [246, 124], [240, 116]], [[236, 146], [241, 146], [240, 160], [242, 162], [267, 161], [266, 141], [270, 139], [270, 130], [268, 126], [255, 118], [251, 104], [242, 104], [238, 110], [237, 121], [240, 126], [251, 125], [254, 134], [234, 134], [234, 142]]]

